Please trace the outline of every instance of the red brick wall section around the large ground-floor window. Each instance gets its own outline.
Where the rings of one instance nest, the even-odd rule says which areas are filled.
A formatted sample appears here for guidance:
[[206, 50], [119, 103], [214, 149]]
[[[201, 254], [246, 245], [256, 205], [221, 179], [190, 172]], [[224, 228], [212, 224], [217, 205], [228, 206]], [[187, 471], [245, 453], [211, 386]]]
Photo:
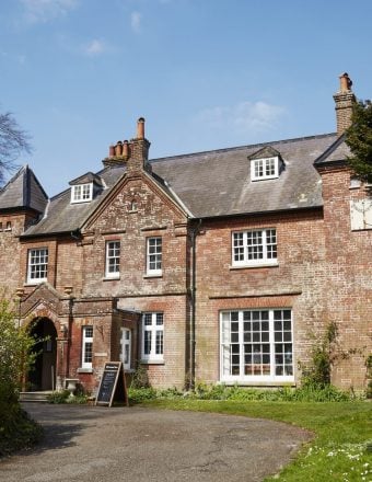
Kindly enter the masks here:
[[[278, 266], [232, 268], [232, 231], [255, 228], [276, 228]], [[201, 230], [197, 238], [197, 378], [207, 382], [220, 379], [222, 309], [292, 308], [295, 363], [305, 359], [309, 334], [317, 331], [324, 319], [322, 210], [209, 221]]]

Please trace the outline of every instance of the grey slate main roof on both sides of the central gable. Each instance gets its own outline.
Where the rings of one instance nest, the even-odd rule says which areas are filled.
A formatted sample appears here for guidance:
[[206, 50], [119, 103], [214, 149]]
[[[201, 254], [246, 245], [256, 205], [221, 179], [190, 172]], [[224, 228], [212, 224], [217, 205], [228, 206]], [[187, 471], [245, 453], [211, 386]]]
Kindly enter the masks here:
[[[150, 162], [158, 185], [175, 203], [184, 205], [191, 216], [252, 215], [322, 207], [321, 176], [314, 162], [322, 162], [325, 153], [329, 159], [342, 157], [342, 146], [336, 134], [325, 134]], [[265, 148], [278, 151], [284, 168], [278, 179], [252, 182], [248, 158]], [[44, 218], [24, 236], [71, 232], [81, 228], [125, 172], [126, 167], [119, 165], [94, 174], [105, 188], [90, 203], [71, 204], [70, 190], [53, 197]]]

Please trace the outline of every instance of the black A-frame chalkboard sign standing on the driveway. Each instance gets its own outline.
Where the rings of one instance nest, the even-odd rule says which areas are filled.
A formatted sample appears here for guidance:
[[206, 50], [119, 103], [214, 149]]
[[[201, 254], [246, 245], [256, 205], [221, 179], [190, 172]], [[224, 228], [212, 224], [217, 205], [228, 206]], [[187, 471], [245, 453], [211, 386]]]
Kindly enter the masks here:
[[129, 405], [126, 376], [121, 362], [105, 363], [95, 404], [112, 406], [114, 401]]

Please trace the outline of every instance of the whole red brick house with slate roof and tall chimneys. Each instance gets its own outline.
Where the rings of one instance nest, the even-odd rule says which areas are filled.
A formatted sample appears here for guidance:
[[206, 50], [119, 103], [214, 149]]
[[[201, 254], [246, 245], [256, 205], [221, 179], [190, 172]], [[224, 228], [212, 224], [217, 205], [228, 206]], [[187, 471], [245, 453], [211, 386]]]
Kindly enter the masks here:
[[363, 389], [372, 200], [346, 163], [347, 74], [334, 99], [336, 134], [154, 160], [140, 118], [51, 198], [22, 168], [0, 191], [0, 285], [48, 336], [30, 388], [94, 391], [119, 359], [154, 387], [295, 386], [335, 321], [359, 351], [333, 381]]

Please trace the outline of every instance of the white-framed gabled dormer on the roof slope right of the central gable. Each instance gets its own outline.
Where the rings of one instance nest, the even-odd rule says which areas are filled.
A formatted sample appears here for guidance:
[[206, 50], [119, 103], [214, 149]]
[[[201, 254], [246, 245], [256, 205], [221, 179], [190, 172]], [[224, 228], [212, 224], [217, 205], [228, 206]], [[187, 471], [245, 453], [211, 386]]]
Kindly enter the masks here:
[[251, 181], [265, 181], [279, 177], [284, 168], [280, 152], [270, 146], [259, 149], [252, 156], [251, 161]]

